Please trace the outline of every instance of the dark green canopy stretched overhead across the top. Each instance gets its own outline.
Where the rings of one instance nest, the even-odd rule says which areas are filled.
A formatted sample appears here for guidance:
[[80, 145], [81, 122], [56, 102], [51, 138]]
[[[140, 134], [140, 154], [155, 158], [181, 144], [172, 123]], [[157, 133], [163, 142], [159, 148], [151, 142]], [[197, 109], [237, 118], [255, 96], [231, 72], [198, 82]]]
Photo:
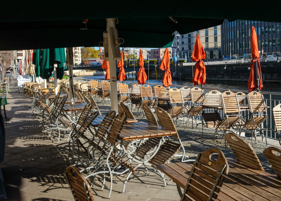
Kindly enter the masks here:
[[[66, 12], [55, 12], [54, 5], [56, 11]], [[87, 1], [86, 5], [87, 8], [97, 6], [96, 1]], [[41, 1], [30, 1], [21, 5], [21, 10], [32, 12], [24, 15], [13, 12], [11, 15], [14, 5], [2, 2], [5, 9], [2, 9], [1, 16], [8, 17], [0, 19], [0, 38], [4, 38], [0, 40], [0, 50], [98, 46], [103, 41], [106, 18], [117, 18], [118, 37], [125, 40], [121, 47], [171, 46], [174, 31], [185, 34], [220, 25], [224, 19], [281, 21], [281, 1], [275, 1], [274, 6], [263, 5], [265, 10], [268, 6], [270, 15], [258, 14], [257, 5], [252, 1], [149, 1], [149, 4], [138, 6], [125, 4], [122, 6], [124, 11], [120, 12], [120, 5], [107, 1], [104, 9], [91, 12], [85, 10], [85, 4], [56, 1], [39, 9], [42, 8]], [[87, 26], [84, 19], [88, 19]]]

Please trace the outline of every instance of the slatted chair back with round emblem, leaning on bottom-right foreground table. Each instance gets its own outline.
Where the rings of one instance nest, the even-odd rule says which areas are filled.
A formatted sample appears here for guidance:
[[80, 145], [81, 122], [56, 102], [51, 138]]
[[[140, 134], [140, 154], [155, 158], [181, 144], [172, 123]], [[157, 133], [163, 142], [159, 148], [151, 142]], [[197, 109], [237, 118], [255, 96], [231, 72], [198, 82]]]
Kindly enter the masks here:
[[[212, 160], [218, 153], [217, 160]], [[214, 200], [222, 187], [229, 165], [221, 150], [212, 148], [197, 155], [180, 200]]]

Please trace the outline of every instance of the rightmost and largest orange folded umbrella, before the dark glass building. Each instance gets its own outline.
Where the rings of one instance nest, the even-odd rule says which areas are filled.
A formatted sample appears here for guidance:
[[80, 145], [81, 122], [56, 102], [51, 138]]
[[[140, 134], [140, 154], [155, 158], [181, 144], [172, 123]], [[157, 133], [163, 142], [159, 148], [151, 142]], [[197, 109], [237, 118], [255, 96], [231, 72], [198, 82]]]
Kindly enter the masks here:
[[254, 90], [260, 91], [263, 88], [263, 78], [261, 76], [260, 69], [260, 53], [258, 51], [258, 39], [255, 27], [253, 26], [251, 31], [251, 53], [252, 60], [251, 64], [249, 65], [251, 72], [248, 80], [249, 92]]

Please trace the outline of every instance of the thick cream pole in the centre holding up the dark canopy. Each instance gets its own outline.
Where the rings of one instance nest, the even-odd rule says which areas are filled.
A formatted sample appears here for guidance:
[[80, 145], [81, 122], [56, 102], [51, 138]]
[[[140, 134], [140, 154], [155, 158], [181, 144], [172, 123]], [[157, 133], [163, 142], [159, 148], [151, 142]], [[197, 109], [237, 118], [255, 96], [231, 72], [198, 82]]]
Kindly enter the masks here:
[[116, 114], [118, 114], [117, 75], [116, 75], [115, 58], [113, 58], [113, 49], [115, 48], [114, 33], [109, 31], [110, 29], [115, 29], [115, 19], [108, 18], [106, 24], [107, 24], [107, 31], [108, 31], [111, 110], [112, 111], [114, 110]]

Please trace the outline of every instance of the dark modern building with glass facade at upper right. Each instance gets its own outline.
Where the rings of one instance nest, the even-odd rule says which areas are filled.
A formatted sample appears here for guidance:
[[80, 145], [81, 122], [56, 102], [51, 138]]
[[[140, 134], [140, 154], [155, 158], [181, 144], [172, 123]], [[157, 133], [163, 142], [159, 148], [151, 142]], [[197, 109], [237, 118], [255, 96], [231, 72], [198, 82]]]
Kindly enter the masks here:
[[[258, 38], [258, 50], [263, 57], [268, 54], [280, 54], [281, 32], [280, 23], [249, 20], [227, 21], [221, 25], [222, 54], [236, 56], [236, 58], [250, 58], [251, 29], [255, 27]], [[261, 56], [262, 57], [262, 56]]]

